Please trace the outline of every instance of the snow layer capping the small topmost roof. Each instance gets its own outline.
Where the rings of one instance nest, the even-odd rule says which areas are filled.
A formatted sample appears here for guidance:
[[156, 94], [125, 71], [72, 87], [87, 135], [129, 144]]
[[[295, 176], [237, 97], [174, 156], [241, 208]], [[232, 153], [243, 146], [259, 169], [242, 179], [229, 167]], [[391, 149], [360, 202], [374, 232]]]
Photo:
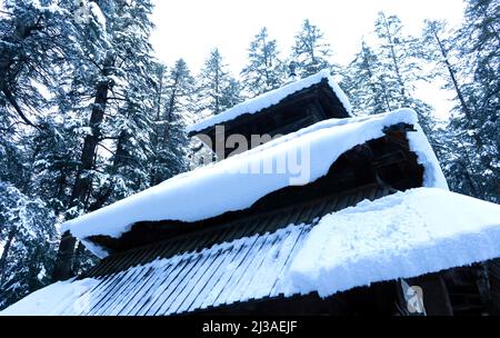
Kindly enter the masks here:
[[209, 127], [223, 123], [226, 121], [230, 121], [236, 119], [237, 117], [244, 115], [244, 113], [256, 113], [261, 111], [262, 109], [269, 108], [271, 106], [274, 106], [279, 103], [281, 100], [287, 98], [288, 96], [309, 88], [313, 84], [317, 84], [321, 82], [322, 79], [327, 79], [329, 86], [336, 93], [337, 98], [339, 98], [340, 102], [342, 103], [343, 108], [351, 112], [351, 103], [349, 102], [348, 97], [346, 93], [340, 89], [339, 84], [333, 80], [333, 78], [330, 76], [330, 72], [328, 70], [321, 70], [320, 72], [307, 77], [302, 80], [292, 82], [290, 84], [283, 86], [279, 89], [274, 89], [271, 91], [268, 91], [263, 95], [260, 95], [253, 99], [247, 100], [242, 103], [239, 103], [231, 109], [228, 109], [219, 115], [212, 116], [199, 123], [196, 123], [193, 126], [188, 127], [186, 130], [188, 132], [197, 132], [201, 131], [203, 129], [207, 129]]

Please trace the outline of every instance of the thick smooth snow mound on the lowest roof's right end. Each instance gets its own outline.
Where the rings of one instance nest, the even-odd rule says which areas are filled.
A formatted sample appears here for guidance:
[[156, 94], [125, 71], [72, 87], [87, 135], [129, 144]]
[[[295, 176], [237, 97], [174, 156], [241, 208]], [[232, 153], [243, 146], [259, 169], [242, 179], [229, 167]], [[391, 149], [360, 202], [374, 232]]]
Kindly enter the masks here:
[[500, 206], [432, 188], [324, 216], [290, 267], [301, 294], [321, 297], [500, 257]]

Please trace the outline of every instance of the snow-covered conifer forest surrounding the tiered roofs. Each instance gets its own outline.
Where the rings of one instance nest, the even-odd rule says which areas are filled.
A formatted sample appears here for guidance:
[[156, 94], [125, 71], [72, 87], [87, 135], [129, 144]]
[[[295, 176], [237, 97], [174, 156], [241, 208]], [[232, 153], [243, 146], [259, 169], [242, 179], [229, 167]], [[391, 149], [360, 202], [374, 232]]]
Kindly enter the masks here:
[[[0, 309], [96, 264], [61, 223], [194, 169], [204, 150], [186, 126], [280, 88], [290, 64], [297, 78], [329, 69], [356, 116], [414, 109], [450, 189], [500, 202], [498, 0], [466, 0], [460, 27], [426, 20], [419, 36], [380, 12], [348, 64], [307, 18], [290, 50], [262, 28], [239, 73], [217, 48], [201, 69], [158, 60], [153, 10], [151, 0], [1, 0]], [[446, 118], [416, 98], [422, 81], [451, 93]]]

